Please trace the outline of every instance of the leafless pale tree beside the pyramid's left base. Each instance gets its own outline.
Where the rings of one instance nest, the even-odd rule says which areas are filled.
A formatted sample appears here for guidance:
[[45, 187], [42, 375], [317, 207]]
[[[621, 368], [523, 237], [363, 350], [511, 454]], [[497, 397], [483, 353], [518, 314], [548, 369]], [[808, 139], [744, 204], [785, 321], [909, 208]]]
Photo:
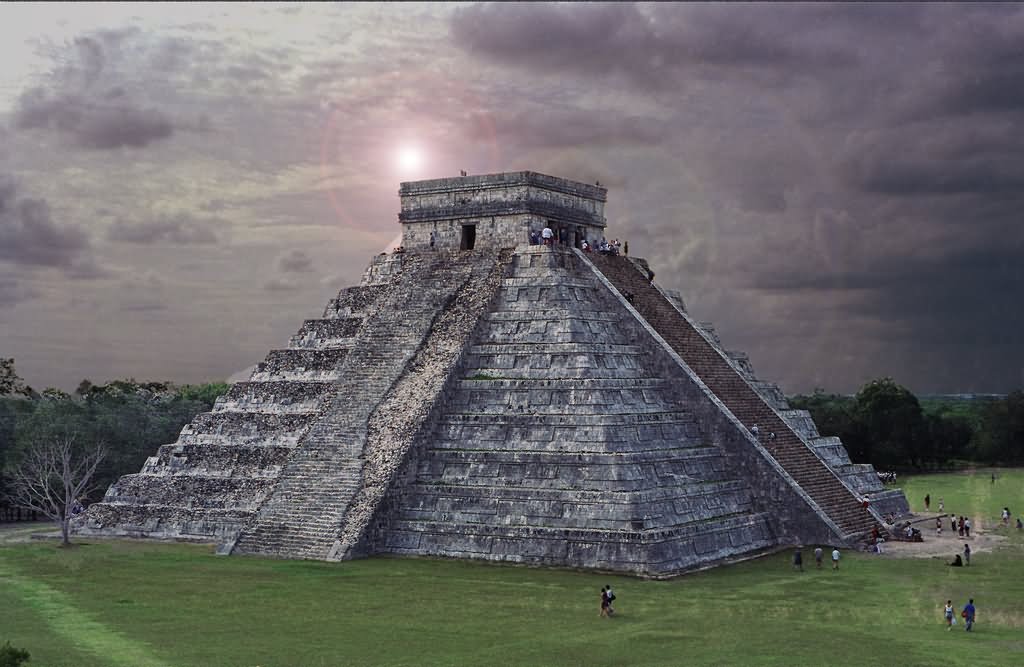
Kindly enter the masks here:
[[90, 486], [106, 448], [96, 445], [80, 452], [74, 435], [38, 442], [10, 474], [8, 495], [14, 504], [33, 509], [60, 527], [60, 545], [70, 546], [71, 519], [82, 509], [79, 499]]

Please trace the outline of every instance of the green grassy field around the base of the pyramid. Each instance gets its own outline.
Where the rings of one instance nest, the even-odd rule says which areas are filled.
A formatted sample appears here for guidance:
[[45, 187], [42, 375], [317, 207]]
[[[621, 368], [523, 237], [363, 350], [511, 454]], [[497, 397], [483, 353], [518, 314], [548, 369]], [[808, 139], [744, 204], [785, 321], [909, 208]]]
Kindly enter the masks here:
[[[979, 473], [981, 475], [982, 473]], [[947, 509], [1024, 509], [1024, 471], [902, 480]], [[919, 498], [920, 496], [920, 498]], [[1024, 539], [971, 568], [788, 553], [666, 582], [428, 559], [218, 557], [180, 544], [0, 546], [0, 644], [32, 666], [1021, 665]], [[805, 560], [808, 559], [805, 552]], [[813, 560], [813, 558], [810, 558]], [[612, 584], [614, 619], [598, 618]], [[947, 598], [978, 606], [945, 631]], [[957, 608], [958, 609], [958, 608]]]

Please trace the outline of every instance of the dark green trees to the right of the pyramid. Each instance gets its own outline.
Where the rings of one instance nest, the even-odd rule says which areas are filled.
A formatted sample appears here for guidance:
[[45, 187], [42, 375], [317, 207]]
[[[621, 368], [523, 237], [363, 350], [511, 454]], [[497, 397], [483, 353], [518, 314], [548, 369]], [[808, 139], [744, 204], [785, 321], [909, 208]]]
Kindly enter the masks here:
[[1006, 397], [919, 400], [892, 378], [855, 395], [818, 389], [790, 399], [822, 435], [842, 439], [855, 463], [884, 470], [942, 468], [959, 462], [1024, 464], [1024, 391]]

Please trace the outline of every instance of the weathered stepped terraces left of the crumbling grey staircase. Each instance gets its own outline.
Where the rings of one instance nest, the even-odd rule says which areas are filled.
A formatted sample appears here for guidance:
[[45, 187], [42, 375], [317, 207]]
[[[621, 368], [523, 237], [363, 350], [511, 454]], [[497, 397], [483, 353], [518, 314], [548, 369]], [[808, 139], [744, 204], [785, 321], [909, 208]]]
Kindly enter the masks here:
[[231, 541], [276, 484], [302, 435], [324, 410], [354, 335], [385, 284], [342, 290], [307, 320], [286, 349], [253, 371], [122, 476], [76, 520], [79, 534]]

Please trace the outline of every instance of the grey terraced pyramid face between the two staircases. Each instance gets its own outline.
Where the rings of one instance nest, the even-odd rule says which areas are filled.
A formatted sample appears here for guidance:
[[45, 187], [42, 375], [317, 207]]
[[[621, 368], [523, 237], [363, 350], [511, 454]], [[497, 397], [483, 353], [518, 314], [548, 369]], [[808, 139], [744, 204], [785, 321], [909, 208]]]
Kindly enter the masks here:
[[518, 248], [375, 550], [656, 577], [769, 548], [644, 338], [571, 252]]

